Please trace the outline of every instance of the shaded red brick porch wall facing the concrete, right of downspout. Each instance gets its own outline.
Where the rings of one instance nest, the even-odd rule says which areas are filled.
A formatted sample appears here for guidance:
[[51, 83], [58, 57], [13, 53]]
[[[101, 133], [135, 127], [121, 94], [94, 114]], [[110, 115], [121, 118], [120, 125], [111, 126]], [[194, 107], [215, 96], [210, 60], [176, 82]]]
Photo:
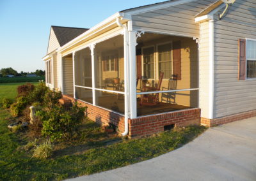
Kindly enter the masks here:
[[175, 127], [200, 125], [200, 109], [181, 110], [179, 112], [149, 115], [129, 120], [129, 136], [141, 137], [164, 131], [164, 126]]

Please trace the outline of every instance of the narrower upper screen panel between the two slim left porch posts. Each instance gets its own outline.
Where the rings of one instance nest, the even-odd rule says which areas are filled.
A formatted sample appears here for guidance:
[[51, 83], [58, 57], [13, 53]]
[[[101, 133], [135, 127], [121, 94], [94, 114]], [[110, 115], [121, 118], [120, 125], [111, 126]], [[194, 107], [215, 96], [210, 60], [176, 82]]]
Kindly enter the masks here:
[[75, 54], [75, 85], [92, 87], [92, 58], [89, 48]]

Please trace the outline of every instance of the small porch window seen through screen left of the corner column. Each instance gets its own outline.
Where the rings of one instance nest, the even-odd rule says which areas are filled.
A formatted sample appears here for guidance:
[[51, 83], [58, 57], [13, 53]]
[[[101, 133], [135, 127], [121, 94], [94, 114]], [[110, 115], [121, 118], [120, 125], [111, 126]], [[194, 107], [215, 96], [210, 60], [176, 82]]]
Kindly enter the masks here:
[[103, 71], [118, 71], [118, 55], [102, 56]]

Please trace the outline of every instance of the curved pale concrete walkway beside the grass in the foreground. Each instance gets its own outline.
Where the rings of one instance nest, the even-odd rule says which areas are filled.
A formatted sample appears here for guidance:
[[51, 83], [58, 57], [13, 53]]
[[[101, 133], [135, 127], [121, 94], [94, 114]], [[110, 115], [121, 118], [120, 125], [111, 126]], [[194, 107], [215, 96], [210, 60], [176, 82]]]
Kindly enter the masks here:
[[256, 180], [256, 117], [208, 129], [163, 156], [72, 180]]

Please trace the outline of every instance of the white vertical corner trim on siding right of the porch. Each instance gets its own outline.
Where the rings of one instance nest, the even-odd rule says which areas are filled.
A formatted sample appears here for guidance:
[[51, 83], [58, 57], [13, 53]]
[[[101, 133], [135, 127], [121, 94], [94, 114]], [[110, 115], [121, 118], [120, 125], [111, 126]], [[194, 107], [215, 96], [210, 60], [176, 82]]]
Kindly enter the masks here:
[[213, 119], [214, 109], [214, 21], [209, 22], [209, 117]]

